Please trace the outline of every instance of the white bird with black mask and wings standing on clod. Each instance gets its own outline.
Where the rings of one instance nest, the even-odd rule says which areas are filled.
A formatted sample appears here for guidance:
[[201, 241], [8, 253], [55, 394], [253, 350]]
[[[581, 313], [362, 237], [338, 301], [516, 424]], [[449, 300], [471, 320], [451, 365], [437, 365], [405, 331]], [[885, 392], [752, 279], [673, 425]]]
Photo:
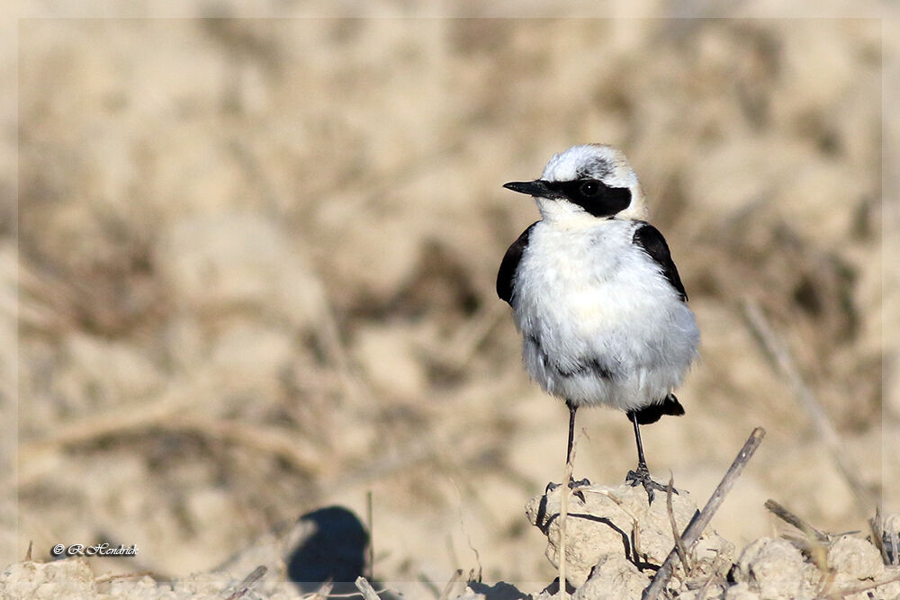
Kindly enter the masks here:
[[569, 409], [567, 472], [579, 407], [625, 411], [638, 458], [626, 482], [652, 503], [654, 489], [670, 487], [651, 479], [640, 426], [684, 415], [673, 391], [700, 332], [637, 175], [618, 148], [582, 144], [554, 155], [539, 179], [503, 187], [532, 196], [541, 214], [503, 256], [497, 294], [512, 307], [531, 379]]

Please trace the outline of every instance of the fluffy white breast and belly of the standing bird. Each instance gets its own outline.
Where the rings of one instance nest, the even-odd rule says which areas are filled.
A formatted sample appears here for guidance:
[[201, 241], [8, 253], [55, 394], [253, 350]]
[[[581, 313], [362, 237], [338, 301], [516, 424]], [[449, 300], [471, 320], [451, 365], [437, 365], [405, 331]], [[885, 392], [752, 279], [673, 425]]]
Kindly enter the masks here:
[[513, 307], [527, 371], [576, 405], [631, 410], [662, 401], [697, 354], [694, 316], [633, 245], [637, 227], [540, 221], [518, 266]]

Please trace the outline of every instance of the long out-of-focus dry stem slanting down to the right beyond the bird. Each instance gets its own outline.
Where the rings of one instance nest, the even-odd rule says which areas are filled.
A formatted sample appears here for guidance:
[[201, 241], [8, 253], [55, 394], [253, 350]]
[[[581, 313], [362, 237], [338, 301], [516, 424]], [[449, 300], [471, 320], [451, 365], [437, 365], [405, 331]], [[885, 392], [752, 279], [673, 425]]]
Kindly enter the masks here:
[[797, 362], [794, 360], [788, 350], [788, 346], [780, 339], [778, 334], [770, 327], [769, 319], [763, 314], [759, 302], [756, 300], [744, 300], [744, 315], [747, 323], [751, 328], [752, 334], [760, 343], [763, 352], [769, 358], [770, 363], [775, 367], [776, 371], [784, 377], [791, 388], [800, 406], [806, 410], [806, 414], [813, 420], [816, 434], [822, 439], [828, 452], [832, 455], [832, 460], [837, 470], [841, 473], [844, 480], [851, 488], [856, 505], [863, 518], [869, 518], [869, 507], [872, 502], [866, 488], [862, 485], [860, 479], [856, 476], [858, 472], [851, 465], [847, 458], [847, 452], [842, 448], [841, 438], [838, 436], [837, 430], [832, 425], [831, 419], [825, 413], [822, 404], [815, 397], [813, 390], [806, 385], [800, 370], [797, 368]]

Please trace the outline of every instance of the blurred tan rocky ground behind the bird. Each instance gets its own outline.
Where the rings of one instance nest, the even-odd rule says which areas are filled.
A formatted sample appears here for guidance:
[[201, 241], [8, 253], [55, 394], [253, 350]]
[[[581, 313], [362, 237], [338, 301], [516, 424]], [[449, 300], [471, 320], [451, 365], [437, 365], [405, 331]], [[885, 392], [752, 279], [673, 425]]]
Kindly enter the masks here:
[[[626, 151], [702, 331], [687, 415], [644, 428], [656, 478], [702, 504], [762, 425], [718, 531], [773, 533], [769, 497], [864, 530], [900, 431], [882, 37], [874, 19], [19, 22], [9, 560], [102, 540], [140, 551], [97, 572], [183, 576], [322, 506], [367, 521], [371, 492], [377, 578], [539, 590], [554, 571], [524, 505], [560, 479], [567, 412], [494, 292], [537, 219], [500, 185], [583, 142]], [[624, 479], [626, 417], [579, 426], [576, 478]]]

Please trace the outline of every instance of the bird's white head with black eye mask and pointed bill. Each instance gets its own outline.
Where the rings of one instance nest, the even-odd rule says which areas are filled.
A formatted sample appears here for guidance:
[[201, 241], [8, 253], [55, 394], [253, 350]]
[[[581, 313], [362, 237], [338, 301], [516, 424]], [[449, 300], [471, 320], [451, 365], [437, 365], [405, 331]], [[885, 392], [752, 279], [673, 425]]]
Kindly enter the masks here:
[[540, 179], [503, 187], [534, 196], [541, 216], [561, 224], [649, 216], [641, 184], [625, 155], [602, 144], [572, 146], [550, 159]]

